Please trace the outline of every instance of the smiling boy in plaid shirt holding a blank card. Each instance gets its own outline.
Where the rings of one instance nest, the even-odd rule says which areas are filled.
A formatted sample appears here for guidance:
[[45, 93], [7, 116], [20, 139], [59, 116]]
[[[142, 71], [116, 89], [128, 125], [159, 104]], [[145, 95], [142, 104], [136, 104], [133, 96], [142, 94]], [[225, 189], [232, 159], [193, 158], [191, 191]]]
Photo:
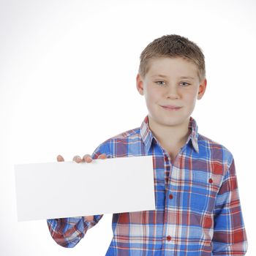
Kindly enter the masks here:
[[[148, 108], [141, 126], [106, 140], [91, 157], [74, 157], [153, 156], [156, 210], [113, 214], [106, 255], [245, 255], [233, 156], [198, 134], [190, 116], [206, 91], [202, 51], [178, 35], [155, 39], [140, 55], [136, 80]], [[48, 227], [58, 244], [73, 247], [101, 218], [48, 219]]]

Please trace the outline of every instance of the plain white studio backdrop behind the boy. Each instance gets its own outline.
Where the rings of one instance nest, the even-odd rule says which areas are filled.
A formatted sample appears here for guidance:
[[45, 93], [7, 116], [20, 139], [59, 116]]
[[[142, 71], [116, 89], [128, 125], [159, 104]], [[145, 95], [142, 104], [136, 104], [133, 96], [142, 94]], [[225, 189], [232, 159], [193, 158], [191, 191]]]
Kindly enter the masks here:
[[253, 0], [1, 0], [0, 254], [105, 255], [110, 214], [73, 249], [57, 245], [45, 221], [17, 222], [13, 165], [91, 154], [139, 127], [147, 114], [135, 88], [140, 53], [180, 34], [206, 56], [208, 87], [192, 116], [235, 157], [247, 255], [255, 255], [255, 11]]

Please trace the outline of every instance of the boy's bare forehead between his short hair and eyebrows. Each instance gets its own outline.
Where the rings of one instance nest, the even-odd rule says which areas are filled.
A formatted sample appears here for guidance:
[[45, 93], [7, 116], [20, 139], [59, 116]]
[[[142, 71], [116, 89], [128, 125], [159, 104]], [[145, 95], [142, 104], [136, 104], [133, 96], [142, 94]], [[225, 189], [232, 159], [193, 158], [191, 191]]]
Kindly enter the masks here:
[[166, 76], [198, 76], [197, 66], [187, 59], [176, 57], [160, 57], [151, 59], [148, 62], [148, 76], [166, 75]]

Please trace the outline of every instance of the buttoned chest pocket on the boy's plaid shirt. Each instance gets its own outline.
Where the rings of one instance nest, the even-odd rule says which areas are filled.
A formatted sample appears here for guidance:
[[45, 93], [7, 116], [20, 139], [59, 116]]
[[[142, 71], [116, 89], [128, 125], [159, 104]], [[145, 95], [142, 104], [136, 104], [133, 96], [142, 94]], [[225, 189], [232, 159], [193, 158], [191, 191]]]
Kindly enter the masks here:
[[211, 213], [217, 195], [211, 173], [193, 171], [191, 184], [188, 195], [191, 210]]

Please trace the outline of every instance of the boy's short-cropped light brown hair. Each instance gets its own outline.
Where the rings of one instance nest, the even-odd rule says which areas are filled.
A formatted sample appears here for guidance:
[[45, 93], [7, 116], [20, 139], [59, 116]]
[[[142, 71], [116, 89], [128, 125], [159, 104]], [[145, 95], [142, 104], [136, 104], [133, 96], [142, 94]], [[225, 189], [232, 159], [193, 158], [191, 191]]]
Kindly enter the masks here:
[[139, 74], [145, 78], [149, 69], [149, 61], [160, 57], [181, 57], [192, 61], [198, 69], [200, 80], [206, 78], [206, 64], [203, 51], [187, 37], [177, 34], [168, 34], [149, 43], [140, 54]]

